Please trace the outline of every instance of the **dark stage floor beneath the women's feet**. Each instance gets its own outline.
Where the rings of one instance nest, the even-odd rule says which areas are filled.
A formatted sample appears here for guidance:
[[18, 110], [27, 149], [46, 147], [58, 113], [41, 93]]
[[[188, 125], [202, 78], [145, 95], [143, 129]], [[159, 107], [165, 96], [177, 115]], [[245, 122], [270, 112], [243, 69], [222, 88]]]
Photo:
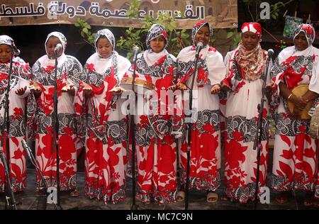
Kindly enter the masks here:
[[[67, 192], [62, 192], [60, 194], [60, 205], [63, 209], [81, 209], [81, 210], [129, 210], [132, 203], [132, 189], [131, 189], [131, 179], [128, 179], [128, 189], [127, 198], [124, 201], [116, 204], [105, 205], [102, 201], [97, 201], [94, 199], [89, 199], [84, 195], [84, 173], [79, 172], [77, 175], [77, 185], [80, 190], [80, 196], [71, 197]], [[222, 186], [218, 189], [217, 193], [219, 196], [223, 194], [225, 187]], [[28, 187], [26, 191], [15, 194], [16, 201], [18, 201], [19, 210], [52, 210], [55, 207], [52, 204], [47, 204], [45, 206], [45, 196], [35, 196], [35, 169], [28, 169]], [[259, 210], [304, 210], [304, 209], [315, 209], [313, 207], [303, 206], [303, 196], [305, 192], [295, 191], [293, 196], [291, 196], [289, 203], [284, 205], [279, 205], [276, 203], [277, 193], [271, 191], [270, 203], [269, 204], [258, 204], [257, 209]], [[137, 201], [139, 209], [142, 210], [184, 210], [184, 203], [170, 203], [165, 206], [159, 206], [155, 203], [150, 203], [149, 205], [142, 204]], [[5, 207], [5, 195], [0, 194], [0, 209]], [[46, 207], [46, 208], [45, 208]], [[207, 203], [206, 193], [203, 191], [190, 191], [189, 195], [189, 210], [252, 210], [254, 209], [254, 203], [237, 203], [231, 201], [220, 201], [218, 199], [217, 203]]]

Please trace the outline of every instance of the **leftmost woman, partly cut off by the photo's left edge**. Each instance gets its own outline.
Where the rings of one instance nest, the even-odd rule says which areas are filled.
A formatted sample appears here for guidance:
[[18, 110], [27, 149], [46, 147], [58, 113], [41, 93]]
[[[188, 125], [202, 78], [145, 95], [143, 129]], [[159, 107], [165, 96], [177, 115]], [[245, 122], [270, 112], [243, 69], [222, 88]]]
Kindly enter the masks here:
[[[11, 47], [13, 55], [11, 55]], [[6, 137], [4, 150], [9, 161], [8, 168], [11, 178], [11, 188], [14, 192], [26, 188], [26, 152], [23, 150], [21, 140], [26, 139], [26, 97], [30, 95], [30, 68], [28, 63], [18, 57], [16, 45], [8, 35], [0, 35], [0, 130], [4, 123], [5, 94], [8, 86], [10, 60], [12, 58], [12, 72], [9, 90], [9, 152], [6, 152]], [[4, 130], [4, 135], [8, 130]], [[0, 133], [0, 141], [2, 136]], [[6, 191], [6, 173], [0, 160], [0, 193]]]

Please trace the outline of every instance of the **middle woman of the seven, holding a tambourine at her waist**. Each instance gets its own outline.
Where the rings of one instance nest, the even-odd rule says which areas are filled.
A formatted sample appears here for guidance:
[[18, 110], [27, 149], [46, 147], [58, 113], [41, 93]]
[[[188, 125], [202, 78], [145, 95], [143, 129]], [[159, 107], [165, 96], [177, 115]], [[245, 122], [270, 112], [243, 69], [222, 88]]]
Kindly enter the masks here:
[[[175, 137], [181, 135], [182, 120], [176, 111], [169, 113], [169, 103], [162, 95], [167, 94], [169, 86], [174, 84], [176, 78], [176, 58], [165, 49], [168, 41], [164, 26], [154, 24], [147, 33], [147, 50], [140, 53], [136, 61], [136, 78], [154, 84], [155, 91], [152, 96], [157, 96], [152, 100], [148, 96], [141, 99], [142, 95], [138, 94], [136, 103], [137, 197], [145, 203], [172, 203], [177, 194]], [[133, 66], [125, 77], [133, 76]], [[145, 106], [153, 105], [152, 103], [155, 103], [153, 108]], [[155, 108], [159, 111], [155, 111]]]

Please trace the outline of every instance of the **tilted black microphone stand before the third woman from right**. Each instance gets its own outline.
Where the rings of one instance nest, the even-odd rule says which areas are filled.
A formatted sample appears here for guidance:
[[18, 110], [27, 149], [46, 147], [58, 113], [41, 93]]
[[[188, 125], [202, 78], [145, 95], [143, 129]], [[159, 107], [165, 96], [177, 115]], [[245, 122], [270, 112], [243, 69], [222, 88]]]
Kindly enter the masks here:
[[[189, 110], [190, 114], [188, 115], [191, 118], [191, 114], [193, 111], [193, 89], [194, 89], [194, 80], [197, 74], [197, 64], [198, 64], [198, 54], [196, 53], [195, 61], [194, 61], [194, 72], [193, 77], [191, 79], [191, 89], [189, 89]], [[189, 209], [189, 168], [191, 162], [191, 129], [193, 127], [193, 123], [189, 122], [187, 125], [187, 164], [186, 164], [186, 184], [185, 184], [185, 210]]]

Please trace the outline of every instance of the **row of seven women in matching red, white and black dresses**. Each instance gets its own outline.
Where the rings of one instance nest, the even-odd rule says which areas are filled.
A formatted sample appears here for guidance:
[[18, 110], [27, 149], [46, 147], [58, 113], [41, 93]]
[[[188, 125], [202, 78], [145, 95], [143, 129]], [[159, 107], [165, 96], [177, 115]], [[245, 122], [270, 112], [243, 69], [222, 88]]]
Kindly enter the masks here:
[[[21, 147], [26, 133], [35, 139], [35, 157], [47, 184], [56, 184], [57, 158], [52, 150], [52, 132], [55, 131], [52, 128], [52, 94], [56, 82], [60, 186], [62, 190], [69, 190], [71, 196], [79, 195], [77, 155], [84, 147], [84, 191], [89, 198], [104, 203], [116, 203], [125, 198], [128, 160], [135, 157], [136, 196], [140, 201], [159, 204], [184, 201], [189, 147], [190, 187], [207, 191], [208, 203], [218, 201], [216, 189], [223, 177], [222, 167], [225, 168], [226, 186], [222, 199], [240, 203], [253, 200], [257, 176], [257, 150], [254, 149], [258, 131], [257, 106], [266, 80], [268, 101], [262, 118], [259, 187], [267, 185], [267, 117], [272, 113], [277, 121], [272, 189], [281, 191], [276, 199], [286, 203], [293, 189], [305, 190], [308, 192], [305, 205], [318, 206], [318, 199], [315, 199], [319, 198], [317, 140], [309, 135], [310, 121], [295, 118], [287, 108], [290, 101], [298, 112], [313, 101], [311, 115], [317, 106], [319, 50], [312, 45], [315, 30], [308, 24], [299, 26], [293, 38], [295, 45], [282, 50], [274, 65], [260, 46], [262, 28], [259, 23], [242, 25], [242, 40], [225, 59], [209, 46], [212, 35], [209, 23], [196, 23], [192, 45], [174, 57], [165, 49], [169, 39], [164, 26], [154, 24], [147, 33], [147, 50], [137, 55], [131, 65], [116, 52], [113, 33], [108, 29], [99, 30], [95, 38], [96, 52], [83, 68], [75, 57], [65, 55], [65, 36], [53, 32], [45, 41], [47, 54], [40, 57], [32, 69], [11, 53], [11, 47], [16, 49], [13, 40], [1, 35], [2, 118], [9, 64], [11, 59], [13, 61], [9, 96], [11, 126], [4, 133], [10, 138], [8, 155], [13, 190], [26, 188], [26, 154]], [[55, 80], [55, 47], [59, 43], [62, 50], [57, 52]], [[196, 55], [198, 43], [203, 43], [203, 47]], [[196, 68], [195, 60], [198, 61]], [[123, 110], [125, 98], [121, 96], [125, 89], [120, 84], [133, 74], [136, 79], [154, 86], [158, 96], [155, 104], [158, 110], [164, 106], [164, 113], [142, 110], [134, 115], [136, 154], [130, 155], [127, 150], [131, 147], [127, 145], [131, 137], [128, 136], [128, 116]], [[308, 91], [303, 96], [295, 96], [292, 89], [300, 84], [308, 84]], [[168, 96], [162, 95], [162, 91], [173, 90], [177, 93], [173, 104], [186, 108], [190, 89], [192, 105], [196, 108], [195, 121], [187, 119], [189, 114], [177, 107], [169, 113]], [[139, 105], [144, 106], [148, 100], [149, 96], [143, 98]], [[137, 102], [130, 107], [139, 108], [139, 105]], [[189, 122], [191, 125], [187, 124]], [[191, 138], [187, 138], [188, 133]], [[222, 149], [225, 150], [225, 164], [221, 164]], [[39, 174], [37, 182], [37, 192], [41, 193], [44, 183]], [[4, 191], [5, 184], [4, 167], [0, 163], [0, 191]]]

